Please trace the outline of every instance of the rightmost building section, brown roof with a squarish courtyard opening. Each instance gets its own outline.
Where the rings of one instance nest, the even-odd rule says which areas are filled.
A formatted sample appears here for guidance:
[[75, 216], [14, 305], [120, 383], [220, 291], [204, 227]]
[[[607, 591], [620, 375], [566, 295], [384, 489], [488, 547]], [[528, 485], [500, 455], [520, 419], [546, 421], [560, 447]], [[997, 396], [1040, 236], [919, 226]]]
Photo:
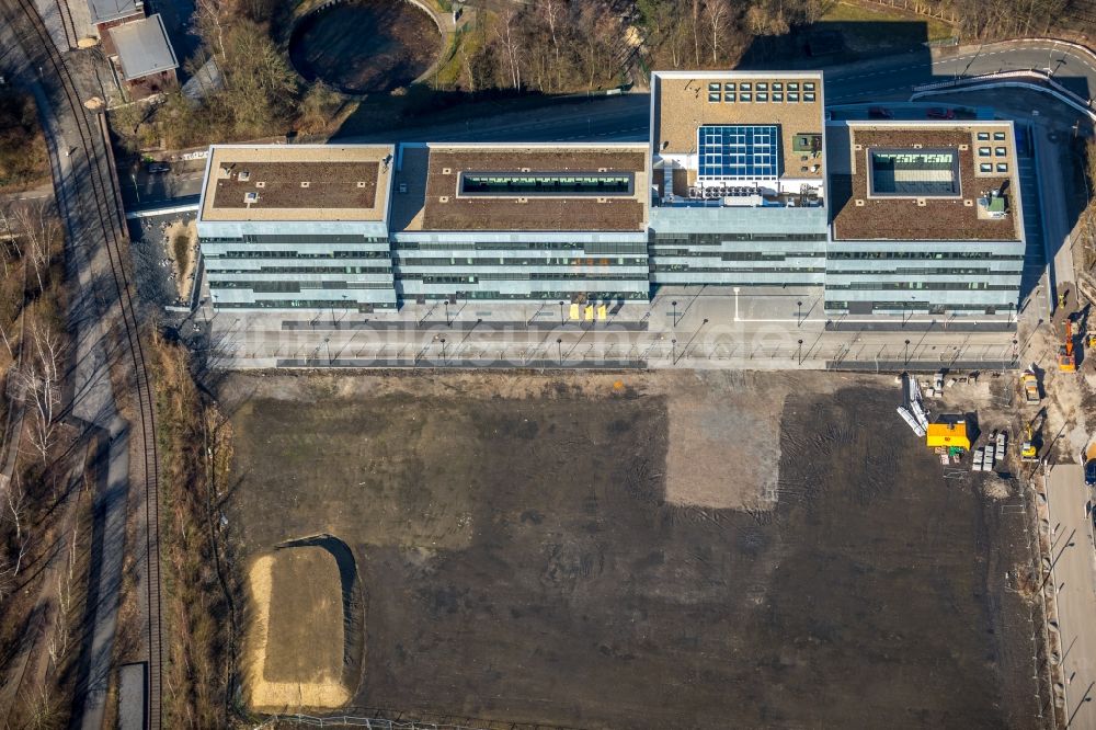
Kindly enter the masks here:
[[1024, 270], [1011, 122], [827, 127], [831, 312], [1009, 313]]

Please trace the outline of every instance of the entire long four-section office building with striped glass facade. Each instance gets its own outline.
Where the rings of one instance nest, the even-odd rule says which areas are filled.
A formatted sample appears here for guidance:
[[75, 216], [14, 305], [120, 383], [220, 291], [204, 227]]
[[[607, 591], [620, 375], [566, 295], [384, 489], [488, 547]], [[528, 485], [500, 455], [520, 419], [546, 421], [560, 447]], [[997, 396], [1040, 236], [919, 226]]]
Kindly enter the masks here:
[[1007, 313], [1024, 264], [1008, 122], [826, 122], [822, 75], [666, 71], [651, 138], [218, 145], [214, 305], [613, 303], [807, 287], [834, 315]]

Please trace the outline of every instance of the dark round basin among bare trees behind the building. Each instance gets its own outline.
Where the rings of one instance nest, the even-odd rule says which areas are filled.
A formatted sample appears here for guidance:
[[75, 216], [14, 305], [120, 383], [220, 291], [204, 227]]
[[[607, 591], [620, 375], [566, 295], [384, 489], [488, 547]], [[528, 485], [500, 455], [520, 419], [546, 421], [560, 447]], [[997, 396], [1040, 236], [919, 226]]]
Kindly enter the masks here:
[[407, 0], [346, 0], [300, 20], [289, 58], [308, 81], [349, 94], [406, 87], [433, 66], [442, 34], [434, 19]]

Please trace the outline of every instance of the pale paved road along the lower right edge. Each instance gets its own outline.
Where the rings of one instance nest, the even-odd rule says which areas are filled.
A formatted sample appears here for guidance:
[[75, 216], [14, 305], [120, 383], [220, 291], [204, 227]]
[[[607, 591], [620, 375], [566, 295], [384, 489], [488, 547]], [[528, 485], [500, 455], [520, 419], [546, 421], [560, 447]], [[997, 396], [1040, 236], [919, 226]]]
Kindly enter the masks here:
[[1096, 730], [1096, 546], [1084, 468], [1051, 468], [1047, 503], [1051, 528], [1051, 580], [1058, 597], [1065, 677], [1065, 722], [1072, 730]]

